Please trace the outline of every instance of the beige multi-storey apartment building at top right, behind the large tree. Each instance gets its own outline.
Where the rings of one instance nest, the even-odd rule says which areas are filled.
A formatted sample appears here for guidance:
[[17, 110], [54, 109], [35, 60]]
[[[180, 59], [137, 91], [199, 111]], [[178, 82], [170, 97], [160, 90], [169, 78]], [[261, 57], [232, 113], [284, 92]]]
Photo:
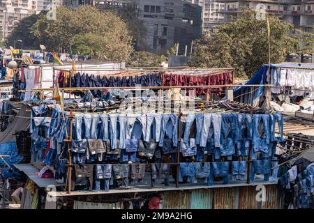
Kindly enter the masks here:
[[267, 13], [281, 15], [283, 20], [294, 24], [303, 31], [312, 31], [314, 26], [314, 1], [313, 0], [217, 0], [225, 3], [225, 10], [221, 11], [224, 22], [230, 21], [231, 17], [237, 16], [244, 6], [257, 8], [258, 3], [264, 4]]

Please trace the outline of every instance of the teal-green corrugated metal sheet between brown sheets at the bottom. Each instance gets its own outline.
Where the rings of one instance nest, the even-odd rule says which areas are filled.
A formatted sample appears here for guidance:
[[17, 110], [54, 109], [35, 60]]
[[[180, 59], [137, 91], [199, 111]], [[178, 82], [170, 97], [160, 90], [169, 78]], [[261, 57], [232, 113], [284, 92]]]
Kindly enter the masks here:
[[212, 209], [213, 190], [192, 190], [190, 208], [192, 209]]

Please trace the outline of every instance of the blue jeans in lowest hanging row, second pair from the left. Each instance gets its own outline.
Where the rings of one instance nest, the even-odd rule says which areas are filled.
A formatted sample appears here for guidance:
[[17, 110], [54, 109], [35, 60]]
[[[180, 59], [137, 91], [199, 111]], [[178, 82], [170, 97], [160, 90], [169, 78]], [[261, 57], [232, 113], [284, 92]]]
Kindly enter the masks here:
[[110, 178], [112, 173], [112, 164], [98, 164], [96, 165], [96, 180], [95, 189], [100, 190], [100, 180], [103, 180], [104, 190], [109, 190]]

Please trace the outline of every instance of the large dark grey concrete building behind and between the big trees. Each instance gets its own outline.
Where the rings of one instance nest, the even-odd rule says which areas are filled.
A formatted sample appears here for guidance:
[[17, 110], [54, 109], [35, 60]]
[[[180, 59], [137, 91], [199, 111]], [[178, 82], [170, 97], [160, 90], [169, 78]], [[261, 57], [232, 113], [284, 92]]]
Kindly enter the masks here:
[[[83, 2], [66, 0], [65, 4], [75, 8]], [[151, 52], [163, 53], [175, 43], [184, 52], [186, 45], [190, 49], [192, 40], [202, 33], [202, 8], [190, 0], [94, 0], [90, 4], [99, 8], [136, 8], [147, 30], [145, 47]]]

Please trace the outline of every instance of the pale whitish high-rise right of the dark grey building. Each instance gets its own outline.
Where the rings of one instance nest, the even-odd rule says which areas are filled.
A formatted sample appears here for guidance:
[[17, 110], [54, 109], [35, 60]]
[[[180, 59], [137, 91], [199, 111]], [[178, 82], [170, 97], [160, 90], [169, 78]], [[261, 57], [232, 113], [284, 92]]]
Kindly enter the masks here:
[[202, 33], [204, 35], [217, 31], [218, 24], [223, 23], [224, 16], [221, 11], [225, 10], [225, 3], [216, 0], [190, 0], [202, 7]]

